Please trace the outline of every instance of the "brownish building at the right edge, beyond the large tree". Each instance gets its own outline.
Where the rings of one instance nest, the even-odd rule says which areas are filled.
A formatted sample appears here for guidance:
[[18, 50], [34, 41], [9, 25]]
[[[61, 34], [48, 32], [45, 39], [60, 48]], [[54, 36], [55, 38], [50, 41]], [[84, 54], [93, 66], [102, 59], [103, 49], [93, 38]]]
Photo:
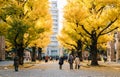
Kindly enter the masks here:
[[115, 33], [114, 41], [108, 42], [107, 57], [109, 62], [120, 61], [120, 32]]

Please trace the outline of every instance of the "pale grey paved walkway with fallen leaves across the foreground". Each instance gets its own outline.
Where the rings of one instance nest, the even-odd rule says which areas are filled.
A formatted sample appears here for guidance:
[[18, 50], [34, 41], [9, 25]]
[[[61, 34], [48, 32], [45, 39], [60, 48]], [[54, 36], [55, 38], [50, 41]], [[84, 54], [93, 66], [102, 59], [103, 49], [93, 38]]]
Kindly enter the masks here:
[[0, 77], [120, 77], [120, 70], [109, 67], [85, 67], [81, 66], [79, 70], [70, 70], [69, 64], [64, 63], [63, 69], [59, 70], [58, 62], [40, 62], [34, 66], [25, 69], [0, 70]]

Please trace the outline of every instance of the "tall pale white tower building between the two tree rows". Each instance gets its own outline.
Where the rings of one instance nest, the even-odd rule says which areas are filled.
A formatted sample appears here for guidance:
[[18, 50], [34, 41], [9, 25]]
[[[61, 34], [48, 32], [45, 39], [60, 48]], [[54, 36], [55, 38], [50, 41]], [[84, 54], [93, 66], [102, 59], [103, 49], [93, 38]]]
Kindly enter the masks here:
[[50, 11], [53, 19], [53, 34], [51, 35], [51, 43], [46, 48], [46, 55], [48, 56], [59, 56], [60, 48], [57, 40], [57, 34], [59, 31], [59, 10], [58, 10], [58, 1], [50, 0]]

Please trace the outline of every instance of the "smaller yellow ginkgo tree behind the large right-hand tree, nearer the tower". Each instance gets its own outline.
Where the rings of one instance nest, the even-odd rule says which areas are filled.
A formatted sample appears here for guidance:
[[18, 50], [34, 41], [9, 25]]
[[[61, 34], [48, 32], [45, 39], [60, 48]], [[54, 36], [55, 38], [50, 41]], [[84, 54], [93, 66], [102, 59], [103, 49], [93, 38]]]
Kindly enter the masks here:
[[63, 47], [71, 51], [70, 53], [73, 53], [75, 56], [78, 55], [80, 58], [82, 58], [82, 37], [79, 36], [74, 29], [74, 24], [64, 23], [63, 29], [60, 35], [58, 35], [58, 40]]

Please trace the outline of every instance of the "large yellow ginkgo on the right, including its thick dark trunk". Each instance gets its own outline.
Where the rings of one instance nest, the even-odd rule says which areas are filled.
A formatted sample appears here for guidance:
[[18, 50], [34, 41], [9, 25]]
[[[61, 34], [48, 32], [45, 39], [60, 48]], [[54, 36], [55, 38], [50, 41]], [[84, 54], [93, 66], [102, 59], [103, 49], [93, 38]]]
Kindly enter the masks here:
[[90, 42], [91, 65], [99, 65], [99, 40], [119, 28], [119, 5], [120, 0], [67, 0], [64, 21], [76, 24], [75, 30], [87, 37]]

